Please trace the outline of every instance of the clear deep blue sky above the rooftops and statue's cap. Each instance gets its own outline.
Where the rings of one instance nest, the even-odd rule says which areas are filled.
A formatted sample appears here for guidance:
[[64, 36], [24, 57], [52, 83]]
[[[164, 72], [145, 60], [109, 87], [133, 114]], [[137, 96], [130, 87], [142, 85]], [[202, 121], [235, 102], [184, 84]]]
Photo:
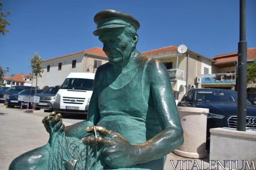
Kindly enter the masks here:
[[[237, 51], [239, 0], [140, 1], [129, 0], [2, 0], [11, 11], [12, 26], [0, 35], [0, 66], [7, 75], [28, 73], [34, 52], [49, 59], [101, 47], [92, 32], [94, 15], [106, 9], [131, 14], [140, 22], [140, 52], [184, 43], [206, 57]], [[246, 2], [246, 41], [256, 47], [256, 1]]]

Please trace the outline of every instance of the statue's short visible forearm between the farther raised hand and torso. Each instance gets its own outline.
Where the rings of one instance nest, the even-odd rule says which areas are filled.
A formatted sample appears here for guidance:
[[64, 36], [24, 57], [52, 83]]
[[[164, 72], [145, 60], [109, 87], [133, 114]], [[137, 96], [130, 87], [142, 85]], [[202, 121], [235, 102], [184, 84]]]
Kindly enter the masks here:
[[82, 139], [84, 137], [91, 135], [91, 133], [87, 133], [85, 130], [87, 126], [93, 126], [93, 122], [82, 121], [70, 126], [66, 126], [64, 129], [64, 132], [65, 132], [65, 135], [68, 137], [77, 137]]

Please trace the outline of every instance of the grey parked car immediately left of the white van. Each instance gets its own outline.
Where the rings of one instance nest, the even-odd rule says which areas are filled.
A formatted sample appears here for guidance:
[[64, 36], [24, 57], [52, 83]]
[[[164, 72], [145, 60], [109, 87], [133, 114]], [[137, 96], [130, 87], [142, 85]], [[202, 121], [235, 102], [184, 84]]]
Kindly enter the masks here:
[[53, 109], [53, 103], [55, 101], [55, 95], [59, 90], [59, 86], [49, 87], [42, 93], [36, 96], [40, 97], [39, 103], [36, 103], [36, 108]]

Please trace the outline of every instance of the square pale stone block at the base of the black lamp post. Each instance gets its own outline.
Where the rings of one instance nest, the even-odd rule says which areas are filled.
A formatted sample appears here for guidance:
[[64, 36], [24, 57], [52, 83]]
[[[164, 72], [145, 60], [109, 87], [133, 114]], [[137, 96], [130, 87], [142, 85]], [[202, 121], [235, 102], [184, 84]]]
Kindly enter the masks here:
[[[248, 164], [250, 166], [254, 160], [256, 166], [256, 131], [244, 132], [233, 128], [213, 128], [210, 132], [210, 160], [220, 160], [221, 164], [226, 167], [229, 167], [229, 162], [224, 160], [237, 160], [239, 169], [247, 169]], [[233, 161], [229, 169], [231, 168], [236, 169], [236, 163]]]

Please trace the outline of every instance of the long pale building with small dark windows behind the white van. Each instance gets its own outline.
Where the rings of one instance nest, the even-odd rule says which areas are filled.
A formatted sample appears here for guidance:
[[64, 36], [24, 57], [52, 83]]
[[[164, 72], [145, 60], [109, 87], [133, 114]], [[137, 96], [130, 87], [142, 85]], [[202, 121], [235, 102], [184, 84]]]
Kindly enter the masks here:
[[42, 63], [44, 72], [42, 77], [38, 78], [37, 86], [40, 89], [45, 89], [50, 86], [62, 85], [69, 73], [95, 73], [100, 65], [107, 62], [108, 57], [99, 47], [44, 60]]

